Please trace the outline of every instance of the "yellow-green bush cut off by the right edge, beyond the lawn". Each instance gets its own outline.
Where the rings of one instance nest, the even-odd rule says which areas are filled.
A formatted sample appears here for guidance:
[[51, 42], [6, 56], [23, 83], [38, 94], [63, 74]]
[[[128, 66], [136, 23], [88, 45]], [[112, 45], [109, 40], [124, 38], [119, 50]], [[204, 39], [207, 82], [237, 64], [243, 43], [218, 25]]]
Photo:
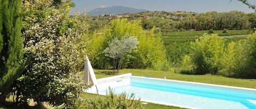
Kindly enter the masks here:
[[225, 76], [256, 78], [256, 34], [239, 42], [231, 42], [225, 48], [222, 70]]

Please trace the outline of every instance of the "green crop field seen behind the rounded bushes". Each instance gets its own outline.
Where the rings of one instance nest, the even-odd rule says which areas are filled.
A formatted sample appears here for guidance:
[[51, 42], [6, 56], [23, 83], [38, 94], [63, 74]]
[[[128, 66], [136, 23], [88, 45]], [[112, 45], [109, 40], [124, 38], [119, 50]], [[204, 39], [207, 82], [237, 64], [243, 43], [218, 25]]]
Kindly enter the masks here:
[[[222, 33], [222, 30], [214, 31], [221, 37], [225, 38], [225, 43], [231, 41], [239, 41], [245, 39], [253, 33], [252, 30], [228, 30], [228, 33]], [[194, 42], [200, 36], [207, 34], [208, 31], [175, 31], [162, 33], [162, 40], [166, 48], [168, 61], [172, 67], [178, 67], [181, 65], [184, 55], [190, 53], [190, 42]]]

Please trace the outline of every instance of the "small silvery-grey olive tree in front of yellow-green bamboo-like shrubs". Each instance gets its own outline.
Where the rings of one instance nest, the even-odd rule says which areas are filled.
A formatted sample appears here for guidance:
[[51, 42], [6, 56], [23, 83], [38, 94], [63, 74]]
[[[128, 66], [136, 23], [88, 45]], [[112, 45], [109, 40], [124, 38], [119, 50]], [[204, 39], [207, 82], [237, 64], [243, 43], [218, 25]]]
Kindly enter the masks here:
[[131, 50], [136, 49], [139, 41], [137, 41], [136, 37], [134, 36], [124, 36], [120, 40], [117, 37], [114, 37], [114, 39], [112, 39], [108, 43], [109, 47], [104, 49], [103, 53], [105, 53], [105, 56], [109, 56], [114, 59], [113, 73], [118, 73], [119, 69], [121, 69], [124, 55], [126, 55]]

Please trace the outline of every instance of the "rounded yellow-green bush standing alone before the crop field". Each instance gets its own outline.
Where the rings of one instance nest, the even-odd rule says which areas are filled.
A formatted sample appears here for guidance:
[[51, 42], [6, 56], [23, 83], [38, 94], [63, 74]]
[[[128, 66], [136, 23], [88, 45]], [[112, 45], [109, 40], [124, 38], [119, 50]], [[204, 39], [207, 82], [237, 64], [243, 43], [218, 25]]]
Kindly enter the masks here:
[[224, 40], [216, 34], [205, 35], [191, 43], [190, 57], [195, 65], [195, 73], [215, 74], [221, 67]]

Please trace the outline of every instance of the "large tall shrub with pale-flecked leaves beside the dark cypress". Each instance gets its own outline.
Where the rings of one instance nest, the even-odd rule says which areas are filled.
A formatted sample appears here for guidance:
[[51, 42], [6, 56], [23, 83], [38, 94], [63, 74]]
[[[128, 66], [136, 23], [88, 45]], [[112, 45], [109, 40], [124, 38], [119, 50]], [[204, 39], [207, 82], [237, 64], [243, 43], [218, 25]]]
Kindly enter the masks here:
[[82, 16], [68, 16], [69, 2], [58, 8], [53, 2], [25, 1], [22, 5], [22, 35], [29, 61], [17, 81], [17, 97], [24, 102], [72, 105], [86, 87], [78, 71], [84, 65], [87, 24]]

